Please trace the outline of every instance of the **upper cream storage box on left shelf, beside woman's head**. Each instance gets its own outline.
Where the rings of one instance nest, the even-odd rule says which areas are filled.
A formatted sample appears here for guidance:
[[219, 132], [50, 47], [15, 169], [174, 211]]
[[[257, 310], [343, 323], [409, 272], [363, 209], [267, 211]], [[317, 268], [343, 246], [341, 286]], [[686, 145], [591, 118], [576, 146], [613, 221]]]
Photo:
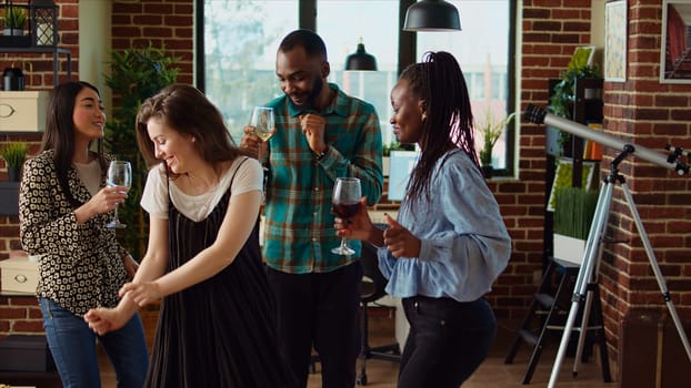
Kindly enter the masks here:
[[0, 132], [43, 132], [47, 91], [0, 92]]

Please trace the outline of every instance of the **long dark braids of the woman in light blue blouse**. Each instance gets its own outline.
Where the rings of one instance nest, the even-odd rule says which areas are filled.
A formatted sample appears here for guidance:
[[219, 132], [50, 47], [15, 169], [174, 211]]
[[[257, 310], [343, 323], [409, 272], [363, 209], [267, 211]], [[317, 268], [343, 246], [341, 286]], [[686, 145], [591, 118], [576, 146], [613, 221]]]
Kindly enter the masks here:
[[[408, 195], [429, 200], [432, 172], [440, 157], [452, 149], [464, 151], [479, 167], [472, 130], [472, 110], [461, 67], [448, 52], [428, 52], [423, 62], [408, 65], [400, 76], [424, 104], [420, 143], [422, 154], [411, 172]], [[442, 162], [443, 163], [443, 162]]]

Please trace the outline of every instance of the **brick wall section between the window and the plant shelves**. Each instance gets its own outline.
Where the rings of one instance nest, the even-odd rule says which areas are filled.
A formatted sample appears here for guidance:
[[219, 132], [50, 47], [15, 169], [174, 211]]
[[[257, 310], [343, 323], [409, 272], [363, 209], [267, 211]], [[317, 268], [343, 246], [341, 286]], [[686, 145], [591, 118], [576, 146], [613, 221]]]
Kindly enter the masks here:
[[[548, 81], [560, 76], [573, 51], [589, 44], [590, 0], [524, 1], [520, 109], [545, 106]], [[520, 320], [535, 292], [533, 273], [542, 269], [545, 191], [544, 126], [522, 124], [519, 136], [519, 180], [491, 183], [513, 238], [513, 254], [489, 299], [499, 317]]]

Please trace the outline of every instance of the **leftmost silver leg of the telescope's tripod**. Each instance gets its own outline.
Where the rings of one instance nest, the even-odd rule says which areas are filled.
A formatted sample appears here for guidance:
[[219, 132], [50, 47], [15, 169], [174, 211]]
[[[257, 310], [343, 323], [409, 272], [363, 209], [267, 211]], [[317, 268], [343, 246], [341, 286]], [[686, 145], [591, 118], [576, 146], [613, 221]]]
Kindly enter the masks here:
[[564, 331], [561, 336], [561, 343], [559, 344], [559, 350], [557, 351], [557, 358], [552, 367], [552, 375], [548, 387], [554, 388], [557, 378], [559, 377], [559, 370], [561, 369], [561, 363], [563, 361], [567, 353], [567, 346], [569, 345], [569, 338], [573, 330], [573, 323], [579, 310], [579, 304], [585, 295], [588, 284], [591, 282], [593, 268], [595, 267], [598, 247], [602, 241], [601, 236], [607, 225], [607, 217], [609, 214], [610, 203], [612, 200], [613, 185], [611, 182], [605, 182], [600, 195], [598, 196], [598, 205], [595, 206], [595, 214], [590, 226], [590, 233], [588, 234], [588, 242], [585, 243], [585, 253], [583, 254], [583, 262], [581, 263], [581, 269], [579, 269], [578, 279], [575, 280], [575, 287], [573, 290], [573, 297], [571, 298], [571, 309], [569, 310], [569, 317], [564, 326]]

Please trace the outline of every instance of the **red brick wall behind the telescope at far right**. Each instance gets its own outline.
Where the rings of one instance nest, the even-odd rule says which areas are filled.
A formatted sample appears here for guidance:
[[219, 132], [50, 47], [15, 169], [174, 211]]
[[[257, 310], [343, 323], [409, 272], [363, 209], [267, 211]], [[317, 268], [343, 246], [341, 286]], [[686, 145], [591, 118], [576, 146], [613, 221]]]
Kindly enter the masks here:
[[[628, 69], [623, 83], [605, 82], [604, 127], [632, 143], [664, 153], [664, 145], [691, 146], [691, 84], [660, 83], [661, 1], [628, 1]], [[605, 163], [611, 161], [608, 152]], [[608, 164], [609, 165], [609, 164]], [[635, 207], [682, 320], [691, 319], [690, 183], [642, 159], [621, 165]], [[619, 348], [619, 329], [633, 307], [667, 313], [633, 216], [620, 188], [614, 193], [610, 226], [625, 243], [608, 248], [602, 259], [603, 309], [610, 346]]]

